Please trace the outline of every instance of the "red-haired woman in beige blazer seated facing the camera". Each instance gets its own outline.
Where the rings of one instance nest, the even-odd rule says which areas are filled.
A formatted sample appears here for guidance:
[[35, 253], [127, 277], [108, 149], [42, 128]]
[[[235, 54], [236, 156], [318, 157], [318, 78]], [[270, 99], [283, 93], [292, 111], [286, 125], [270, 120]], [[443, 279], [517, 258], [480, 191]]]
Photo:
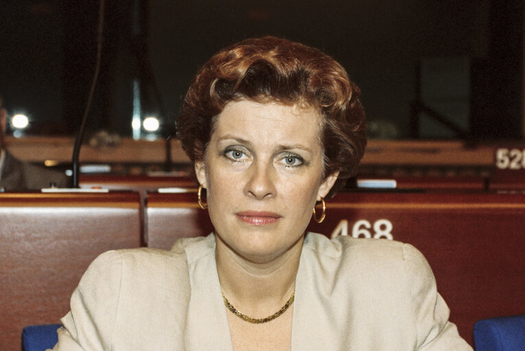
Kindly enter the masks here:
[[97, 258], [54, 350], [471, 350], [413, 247], [305, 234], [362, 157], [359, 95], [288, 40], [213, 56], [177, 125], [215, 232]]

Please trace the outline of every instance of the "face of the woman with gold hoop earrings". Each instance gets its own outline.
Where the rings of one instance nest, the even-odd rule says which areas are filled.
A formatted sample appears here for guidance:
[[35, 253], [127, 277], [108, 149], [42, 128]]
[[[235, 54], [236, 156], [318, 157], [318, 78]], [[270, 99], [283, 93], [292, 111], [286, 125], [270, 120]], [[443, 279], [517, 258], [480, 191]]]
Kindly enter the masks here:
[[323, 177], [320, 122], [312, 107], [226, 105], [195, 167], [218, 245], [254, 262], [301, 249], [316, 200], [337, 178]]

